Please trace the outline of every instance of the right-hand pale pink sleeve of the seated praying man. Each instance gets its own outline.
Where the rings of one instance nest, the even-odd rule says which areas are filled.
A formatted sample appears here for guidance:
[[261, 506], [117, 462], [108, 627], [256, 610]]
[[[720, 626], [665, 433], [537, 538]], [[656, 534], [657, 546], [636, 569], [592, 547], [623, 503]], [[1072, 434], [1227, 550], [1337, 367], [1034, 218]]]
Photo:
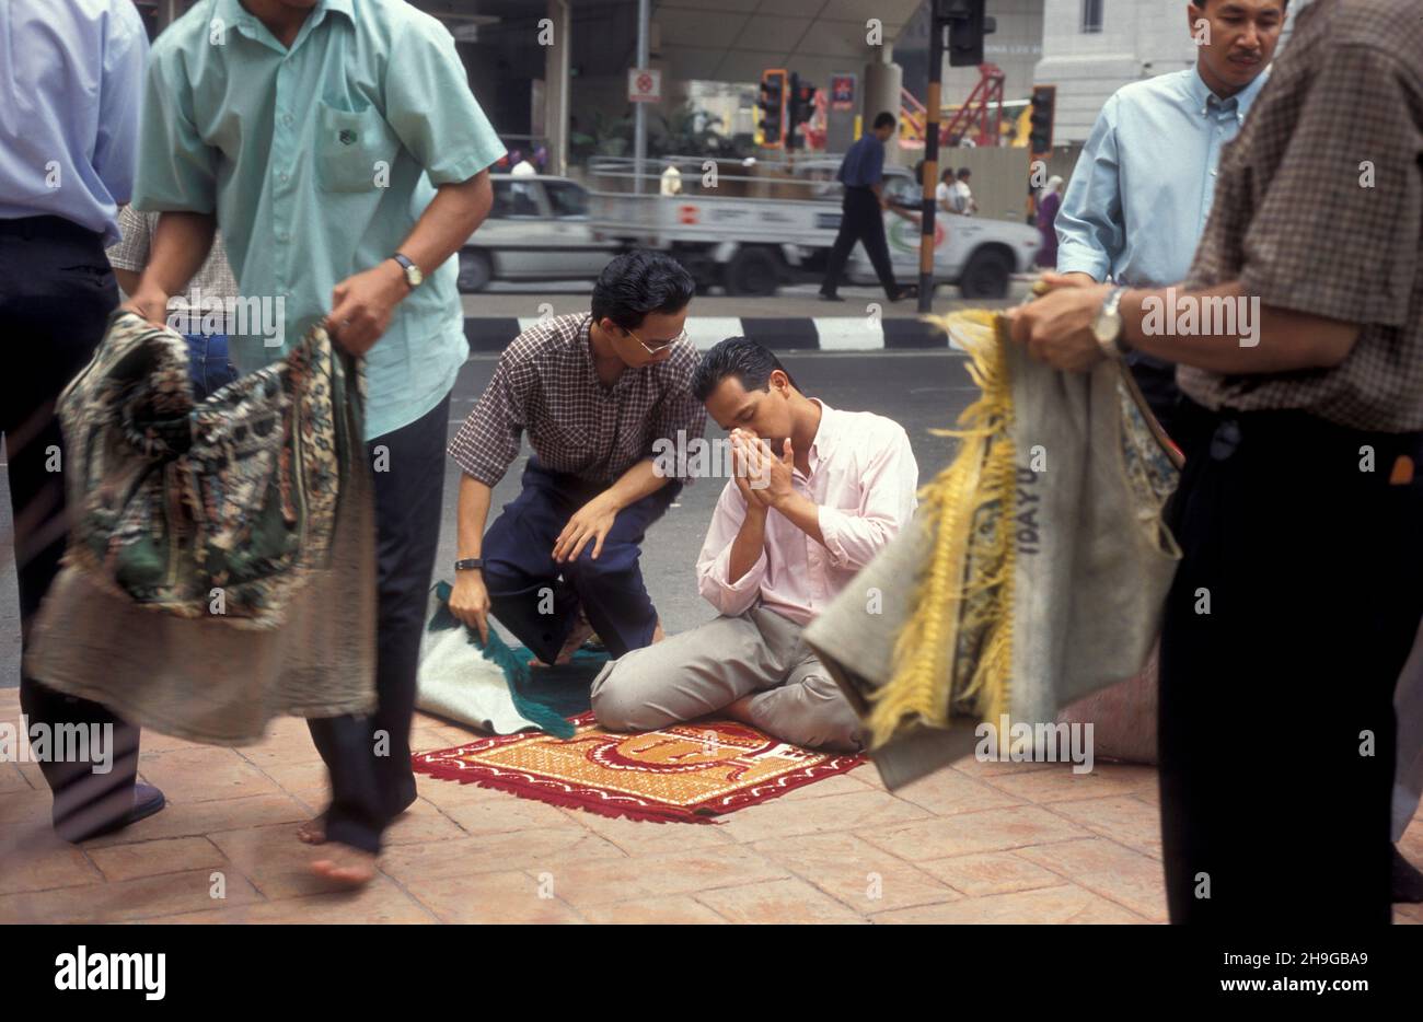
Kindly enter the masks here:
[[859, 477], [861, 507], [820, 505], [820, 534], [837, 568], [864, 568], [914, 515], [919, 465], [904, 427], [892, 426]]

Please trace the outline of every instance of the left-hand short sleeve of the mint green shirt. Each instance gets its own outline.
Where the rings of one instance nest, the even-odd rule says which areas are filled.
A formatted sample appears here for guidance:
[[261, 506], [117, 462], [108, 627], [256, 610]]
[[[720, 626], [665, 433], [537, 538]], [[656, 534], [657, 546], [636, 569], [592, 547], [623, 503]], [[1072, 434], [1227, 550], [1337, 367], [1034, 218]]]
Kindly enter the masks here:
[[211, 214], [218, 199], [218, 151], [202, 139], [194, 122], [182, 50], [162, 41], [148, 61], [148, 87], [138, 118], [134, 208]]

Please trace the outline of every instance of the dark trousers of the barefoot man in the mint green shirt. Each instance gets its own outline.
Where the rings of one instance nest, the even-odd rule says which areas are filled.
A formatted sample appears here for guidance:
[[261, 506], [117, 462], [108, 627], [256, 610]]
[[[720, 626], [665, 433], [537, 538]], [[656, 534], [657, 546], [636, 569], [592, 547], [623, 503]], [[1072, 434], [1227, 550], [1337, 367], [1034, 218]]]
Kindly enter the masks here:
[[[377, 638], [371, 717], [307, 722], [332, 776], [326, 836], [379, 853], [390, 821], [416, 800], [410, 722], [430, 576], [440, 545], [450, 396], [410, 426], [367, 444], [376, 484]], [[384, 448], [380, 451], [379, 448]], [[377, 463], [376, 458], [380, 457]]]

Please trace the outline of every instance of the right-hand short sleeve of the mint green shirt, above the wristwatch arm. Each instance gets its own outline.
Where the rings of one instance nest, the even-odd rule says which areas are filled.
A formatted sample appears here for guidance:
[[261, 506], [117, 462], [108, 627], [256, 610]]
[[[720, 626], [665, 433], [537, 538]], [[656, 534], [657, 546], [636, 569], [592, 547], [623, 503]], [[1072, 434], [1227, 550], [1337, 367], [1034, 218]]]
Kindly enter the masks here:
[[454, 38], [428, 16], [411, 19], [391, 44], [386, 122], [435, 185], [468, 181], [504, 155]]

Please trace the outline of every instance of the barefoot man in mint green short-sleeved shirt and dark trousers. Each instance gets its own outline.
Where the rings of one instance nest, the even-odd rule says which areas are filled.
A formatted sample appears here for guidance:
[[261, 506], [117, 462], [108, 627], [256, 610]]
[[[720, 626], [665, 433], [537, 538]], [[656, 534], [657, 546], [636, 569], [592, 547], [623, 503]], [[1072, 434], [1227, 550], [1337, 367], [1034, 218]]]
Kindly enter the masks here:
[[440, 532], [450, 389], [468, 347], [450, 259], [492, 204], [504, 147], [450, 33], [404, 0], [201, 0], [148, 67], [134, 205], [164, 214], [131, 307], [162, 322], [221, 226], [248, 310], [243, 372], [326, 317], [366, 356], [379, 710], [312, 720], [332, 804], [313, 868], [374, 875], [416, 797], [410, 722]]

